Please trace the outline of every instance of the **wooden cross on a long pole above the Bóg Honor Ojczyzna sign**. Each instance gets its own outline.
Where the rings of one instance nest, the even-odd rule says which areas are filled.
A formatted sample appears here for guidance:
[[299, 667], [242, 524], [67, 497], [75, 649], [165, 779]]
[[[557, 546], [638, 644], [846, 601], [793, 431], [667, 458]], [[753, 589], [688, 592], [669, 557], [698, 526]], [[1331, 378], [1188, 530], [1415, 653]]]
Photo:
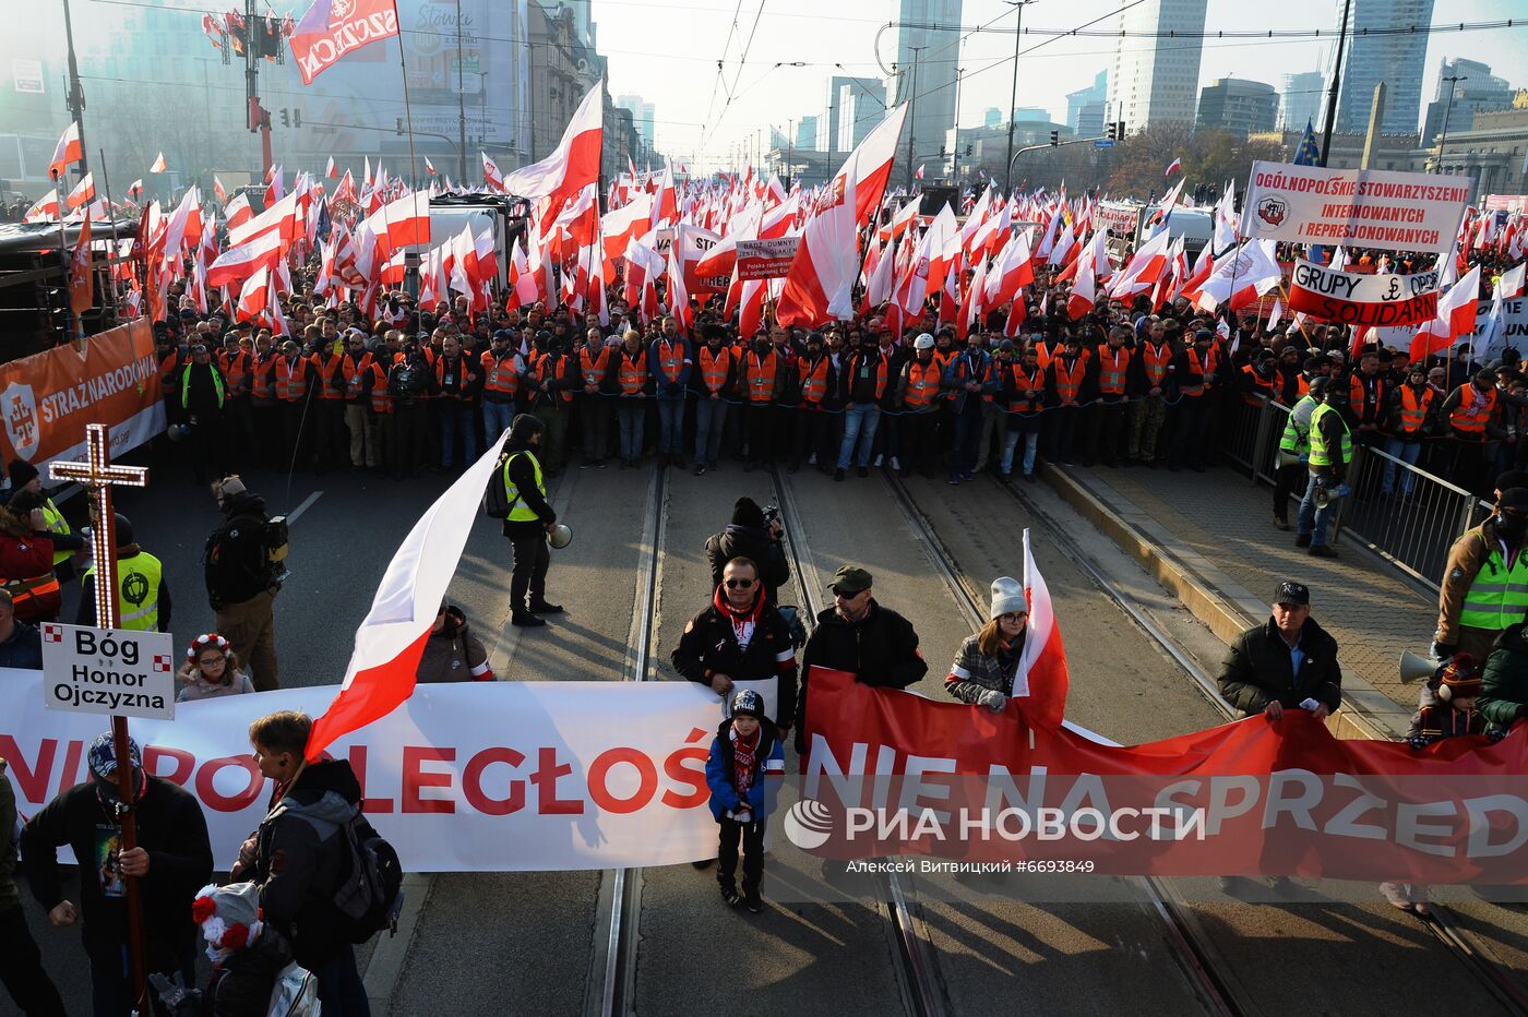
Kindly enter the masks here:
[[[116, 605], [116, 510], [112, 487], [147, 487], [148, 470], [142, 466], [112, 466], [112, 431], [105, 425], [86, 426], [86, 458], [73, 463], [50, 463], [52, 479], [72, 479], [90, 489], [96, 519], [90, 527], [90, 562], [95, 565], [96, 628], [118, 626]], [[133, 815], [133, 768], [127, 751], [127, 718], [112, 715], [112, 741], [116, 748], [118, 822], [122, 825], [122, 851], [138, 846], [138, 820]], [[136, 877], [124, 877], [127, 887], [127, 951], [133, 974], [133, 1005], [147, 1014], [148, 983], [144, 967], [144, 901]]]

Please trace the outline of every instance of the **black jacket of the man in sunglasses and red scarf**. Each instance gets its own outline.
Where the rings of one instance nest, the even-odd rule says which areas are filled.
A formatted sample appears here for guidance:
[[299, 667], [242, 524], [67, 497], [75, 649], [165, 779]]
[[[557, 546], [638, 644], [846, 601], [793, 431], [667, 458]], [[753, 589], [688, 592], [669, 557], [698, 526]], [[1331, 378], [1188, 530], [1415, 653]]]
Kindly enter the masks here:
[[738, 646], [732, 620], [717, 605], [707, 606], [685, 625], [678, 646], [669, 655], [674, 670], [701, 686], [721, 673], [733, 681], [779, 676], [776, 724], [790, 727], [796, 718], [796, 651], [790, 626], [775, 605], [764, 602], [749, 647]]

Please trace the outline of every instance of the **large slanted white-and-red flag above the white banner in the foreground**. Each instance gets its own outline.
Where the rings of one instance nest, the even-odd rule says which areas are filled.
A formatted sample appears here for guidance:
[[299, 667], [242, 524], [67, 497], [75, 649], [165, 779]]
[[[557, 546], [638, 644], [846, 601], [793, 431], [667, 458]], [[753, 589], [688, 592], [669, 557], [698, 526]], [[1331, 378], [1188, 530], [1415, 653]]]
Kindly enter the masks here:
[[377, 721], [414, 693], [419, 658], [429, 628], [461, 560], [483, 489], [498, 467], [501, 441], [490, 435], [478, 458], [399, 545], [377, 585], [345, 667], [345, 681], [313, 721], [307, 759], [318, 759], [336, 739]]

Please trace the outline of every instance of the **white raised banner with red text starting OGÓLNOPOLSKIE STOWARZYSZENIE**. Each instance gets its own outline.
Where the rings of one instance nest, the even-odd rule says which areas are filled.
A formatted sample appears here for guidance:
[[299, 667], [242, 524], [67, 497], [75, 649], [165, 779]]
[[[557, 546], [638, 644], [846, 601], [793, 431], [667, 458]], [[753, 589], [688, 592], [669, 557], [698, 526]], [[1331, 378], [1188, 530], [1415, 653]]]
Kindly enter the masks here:
[[1254, 162], [1241, 235], [1386, 250], [1449, 250], [1475, 183], [1389, 170]]

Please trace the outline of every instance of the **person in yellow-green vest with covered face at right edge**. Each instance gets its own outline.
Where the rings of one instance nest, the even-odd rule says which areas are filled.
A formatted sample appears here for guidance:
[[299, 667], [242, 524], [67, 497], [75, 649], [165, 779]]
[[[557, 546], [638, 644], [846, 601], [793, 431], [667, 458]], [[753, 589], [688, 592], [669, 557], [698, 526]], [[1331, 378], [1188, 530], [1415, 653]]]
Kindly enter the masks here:
[[1528, 612], [1528, 487], [1502, 492], [1496, 513], [1449, 548], [1438, 585], [1438, 631], [1432, 652], [1485, 660], [1504, 629]]

